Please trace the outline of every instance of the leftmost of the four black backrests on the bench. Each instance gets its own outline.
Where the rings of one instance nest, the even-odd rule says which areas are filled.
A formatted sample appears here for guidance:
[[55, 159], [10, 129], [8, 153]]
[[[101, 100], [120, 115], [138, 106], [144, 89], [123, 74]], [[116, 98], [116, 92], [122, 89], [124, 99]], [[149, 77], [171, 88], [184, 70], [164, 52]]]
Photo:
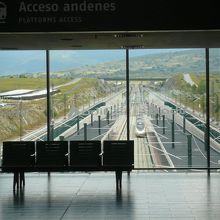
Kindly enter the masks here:
[[3, 142], [2, 165], [7, 167], [30, 167], [34, 165], [35, 143], [32, 141]]

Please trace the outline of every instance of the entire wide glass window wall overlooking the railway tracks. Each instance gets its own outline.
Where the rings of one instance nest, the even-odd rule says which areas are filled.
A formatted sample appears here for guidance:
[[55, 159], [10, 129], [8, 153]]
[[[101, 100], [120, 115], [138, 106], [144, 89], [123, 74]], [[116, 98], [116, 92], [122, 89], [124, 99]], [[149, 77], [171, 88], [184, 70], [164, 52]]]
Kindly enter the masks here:
[[207, 168], [209, 146], [219, 168], [220, 51], [209, 52], [207, 97], [204, 48], [131, 49], [128, 83], [125, 50], [51, 50], [48, 96], [45, 51], [1, 51], [1, 146], [47, 140], [50, 115], [51, 140], [134, 140], [135, 168]]

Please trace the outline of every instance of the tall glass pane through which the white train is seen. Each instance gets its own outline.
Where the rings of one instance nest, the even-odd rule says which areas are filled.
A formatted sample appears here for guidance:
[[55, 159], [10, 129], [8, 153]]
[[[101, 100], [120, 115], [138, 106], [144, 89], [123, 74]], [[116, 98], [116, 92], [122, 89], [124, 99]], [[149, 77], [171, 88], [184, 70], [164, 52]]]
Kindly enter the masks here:
[[132, 50], [130, 55], [135, 167], [207, 167], [205, 50]]

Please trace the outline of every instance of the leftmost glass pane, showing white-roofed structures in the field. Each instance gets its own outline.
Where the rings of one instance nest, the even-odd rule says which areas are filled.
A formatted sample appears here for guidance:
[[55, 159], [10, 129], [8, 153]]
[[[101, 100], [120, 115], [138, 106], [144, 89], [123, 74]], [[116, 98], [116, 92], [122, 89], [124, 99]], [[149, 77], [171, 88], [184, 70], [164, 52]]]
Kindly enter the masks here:
[[0, 144], [46, 132], [44, 51], [0, 51]]

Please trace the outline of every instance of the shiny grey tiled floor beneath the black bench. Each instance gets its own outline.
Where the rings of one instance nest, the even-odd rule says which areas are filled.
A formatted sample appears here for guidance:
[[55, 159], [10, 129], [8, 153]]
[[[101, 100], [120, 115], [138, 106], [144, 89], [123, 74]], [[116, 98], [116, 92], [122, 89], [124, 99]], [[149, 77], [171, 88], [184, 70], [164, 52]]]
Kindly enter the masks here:
[[219, 220], [220, 174], [30, 173], [24, 190], [13, 192], [12, 175], [0, 175], [0, 220]]

